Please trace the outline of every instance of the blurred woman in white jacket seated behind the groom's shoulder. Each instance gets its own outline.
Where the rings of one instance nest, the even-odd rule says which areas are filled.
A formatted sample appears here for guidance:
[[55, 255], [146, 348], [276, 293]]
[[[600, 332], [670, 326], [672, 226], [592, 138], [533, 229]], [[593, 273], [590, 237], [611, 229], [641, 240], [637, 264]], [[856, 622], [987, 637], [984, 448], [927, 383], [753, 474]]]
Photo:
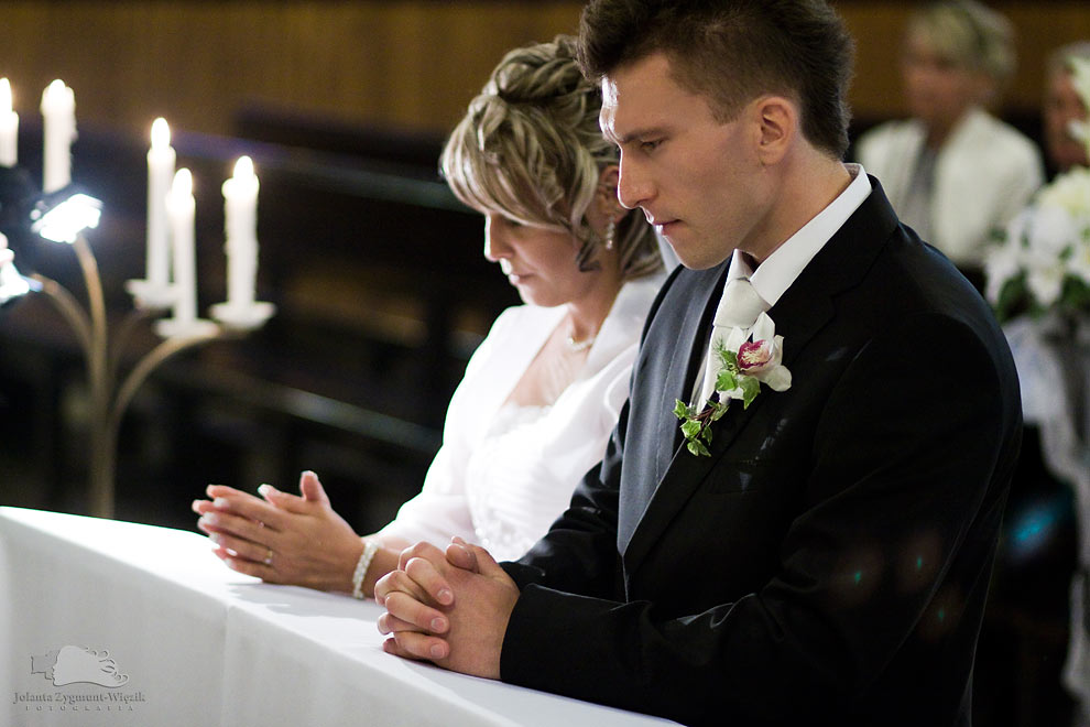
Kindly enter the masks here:
[[902, 63], [913, 118], [858, 144], [859, 162], [882, 180], [901, 219], [971, 279], [991, 231], [1044, 181], [1034, 143], [984, 110], [1014, 67], [1002, 15], [973, 0], [930, 4], [908, 22]]

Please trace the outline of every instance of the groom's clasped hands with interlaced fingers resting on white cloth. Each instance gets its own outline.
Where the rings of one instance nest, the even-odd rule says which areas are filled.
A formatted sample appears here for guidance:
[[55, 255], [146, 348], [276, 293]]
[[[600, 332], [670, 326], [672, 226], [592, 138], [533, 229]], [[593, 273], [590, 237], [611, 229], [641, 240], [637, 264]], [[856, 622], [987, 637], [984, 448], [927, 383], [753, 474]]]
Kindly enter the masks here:
[[417, 543], [379, 579], [386, 609], [379, 631], [388, 653], [466, 674], [500, 677], [500, 650], [519, 587], [484, 549], [451, 540], [446, 551]]

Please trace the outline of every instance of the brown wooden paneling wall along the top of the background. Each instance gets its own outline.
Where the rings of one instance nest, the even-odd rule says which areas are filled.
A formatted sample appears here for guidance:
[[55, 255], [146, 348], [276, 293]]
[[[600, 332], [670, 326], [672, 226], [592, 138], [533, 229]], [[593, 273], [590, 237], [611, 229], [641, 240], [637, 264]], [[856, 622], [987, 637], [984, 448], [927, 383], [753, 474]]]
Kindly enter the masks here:
[[[859, 41], [857, 116], [900, 113], [897, 48], [911, 2], [836, 3]], [[1049, 48], [1090, 37], [1084, 0], [993, 2], [1020, 30], [1006, 104], [1033, 109]], [[166, 116], [229, 133], [242, 105], [445, 130], [509, 47], [574, 31], [581, 2], [546, 0], [4, 0], [0, 75], [35, 115], [63, 78], [81, 122], [146, 133]]]

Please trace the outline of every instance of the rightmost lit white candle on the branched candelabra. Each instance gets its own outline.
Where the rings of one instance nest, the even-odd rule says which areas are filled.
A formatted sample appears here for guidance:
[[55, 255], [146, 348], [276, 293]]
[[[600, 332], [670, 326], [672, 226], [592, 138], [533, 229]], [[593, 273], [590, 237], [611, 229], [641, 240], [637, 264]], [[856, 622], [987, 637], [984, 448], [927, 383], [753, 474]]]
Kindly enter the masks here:
[[249, 156], [240, 156], [235, 175], [224, 182], [227, 235], [227, 305], [253, 306], [258, 282], [258, 177]]

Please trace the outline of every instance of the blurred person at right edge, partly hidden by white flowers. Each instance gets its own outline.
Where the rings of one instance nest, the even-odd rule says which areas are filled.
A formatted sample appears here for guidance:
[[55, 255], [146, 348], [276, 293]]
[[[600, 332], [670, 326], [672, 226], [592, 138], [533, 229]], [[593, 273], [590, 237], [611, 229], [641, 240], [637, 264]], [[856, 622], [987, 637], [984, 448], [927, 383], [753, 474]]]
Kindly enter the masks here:
[[1072, 166], [1090, 166], [1087, 143], [1072, 133], [1071, 121], [1086, 122], [1090, 110], [1071, 80], [1071, 59], [1090, 63], [1090, 41], [1057, 48], [1048, 57], [1045, 78], [1043, 126], [1049, 169], [1061, 174]]

